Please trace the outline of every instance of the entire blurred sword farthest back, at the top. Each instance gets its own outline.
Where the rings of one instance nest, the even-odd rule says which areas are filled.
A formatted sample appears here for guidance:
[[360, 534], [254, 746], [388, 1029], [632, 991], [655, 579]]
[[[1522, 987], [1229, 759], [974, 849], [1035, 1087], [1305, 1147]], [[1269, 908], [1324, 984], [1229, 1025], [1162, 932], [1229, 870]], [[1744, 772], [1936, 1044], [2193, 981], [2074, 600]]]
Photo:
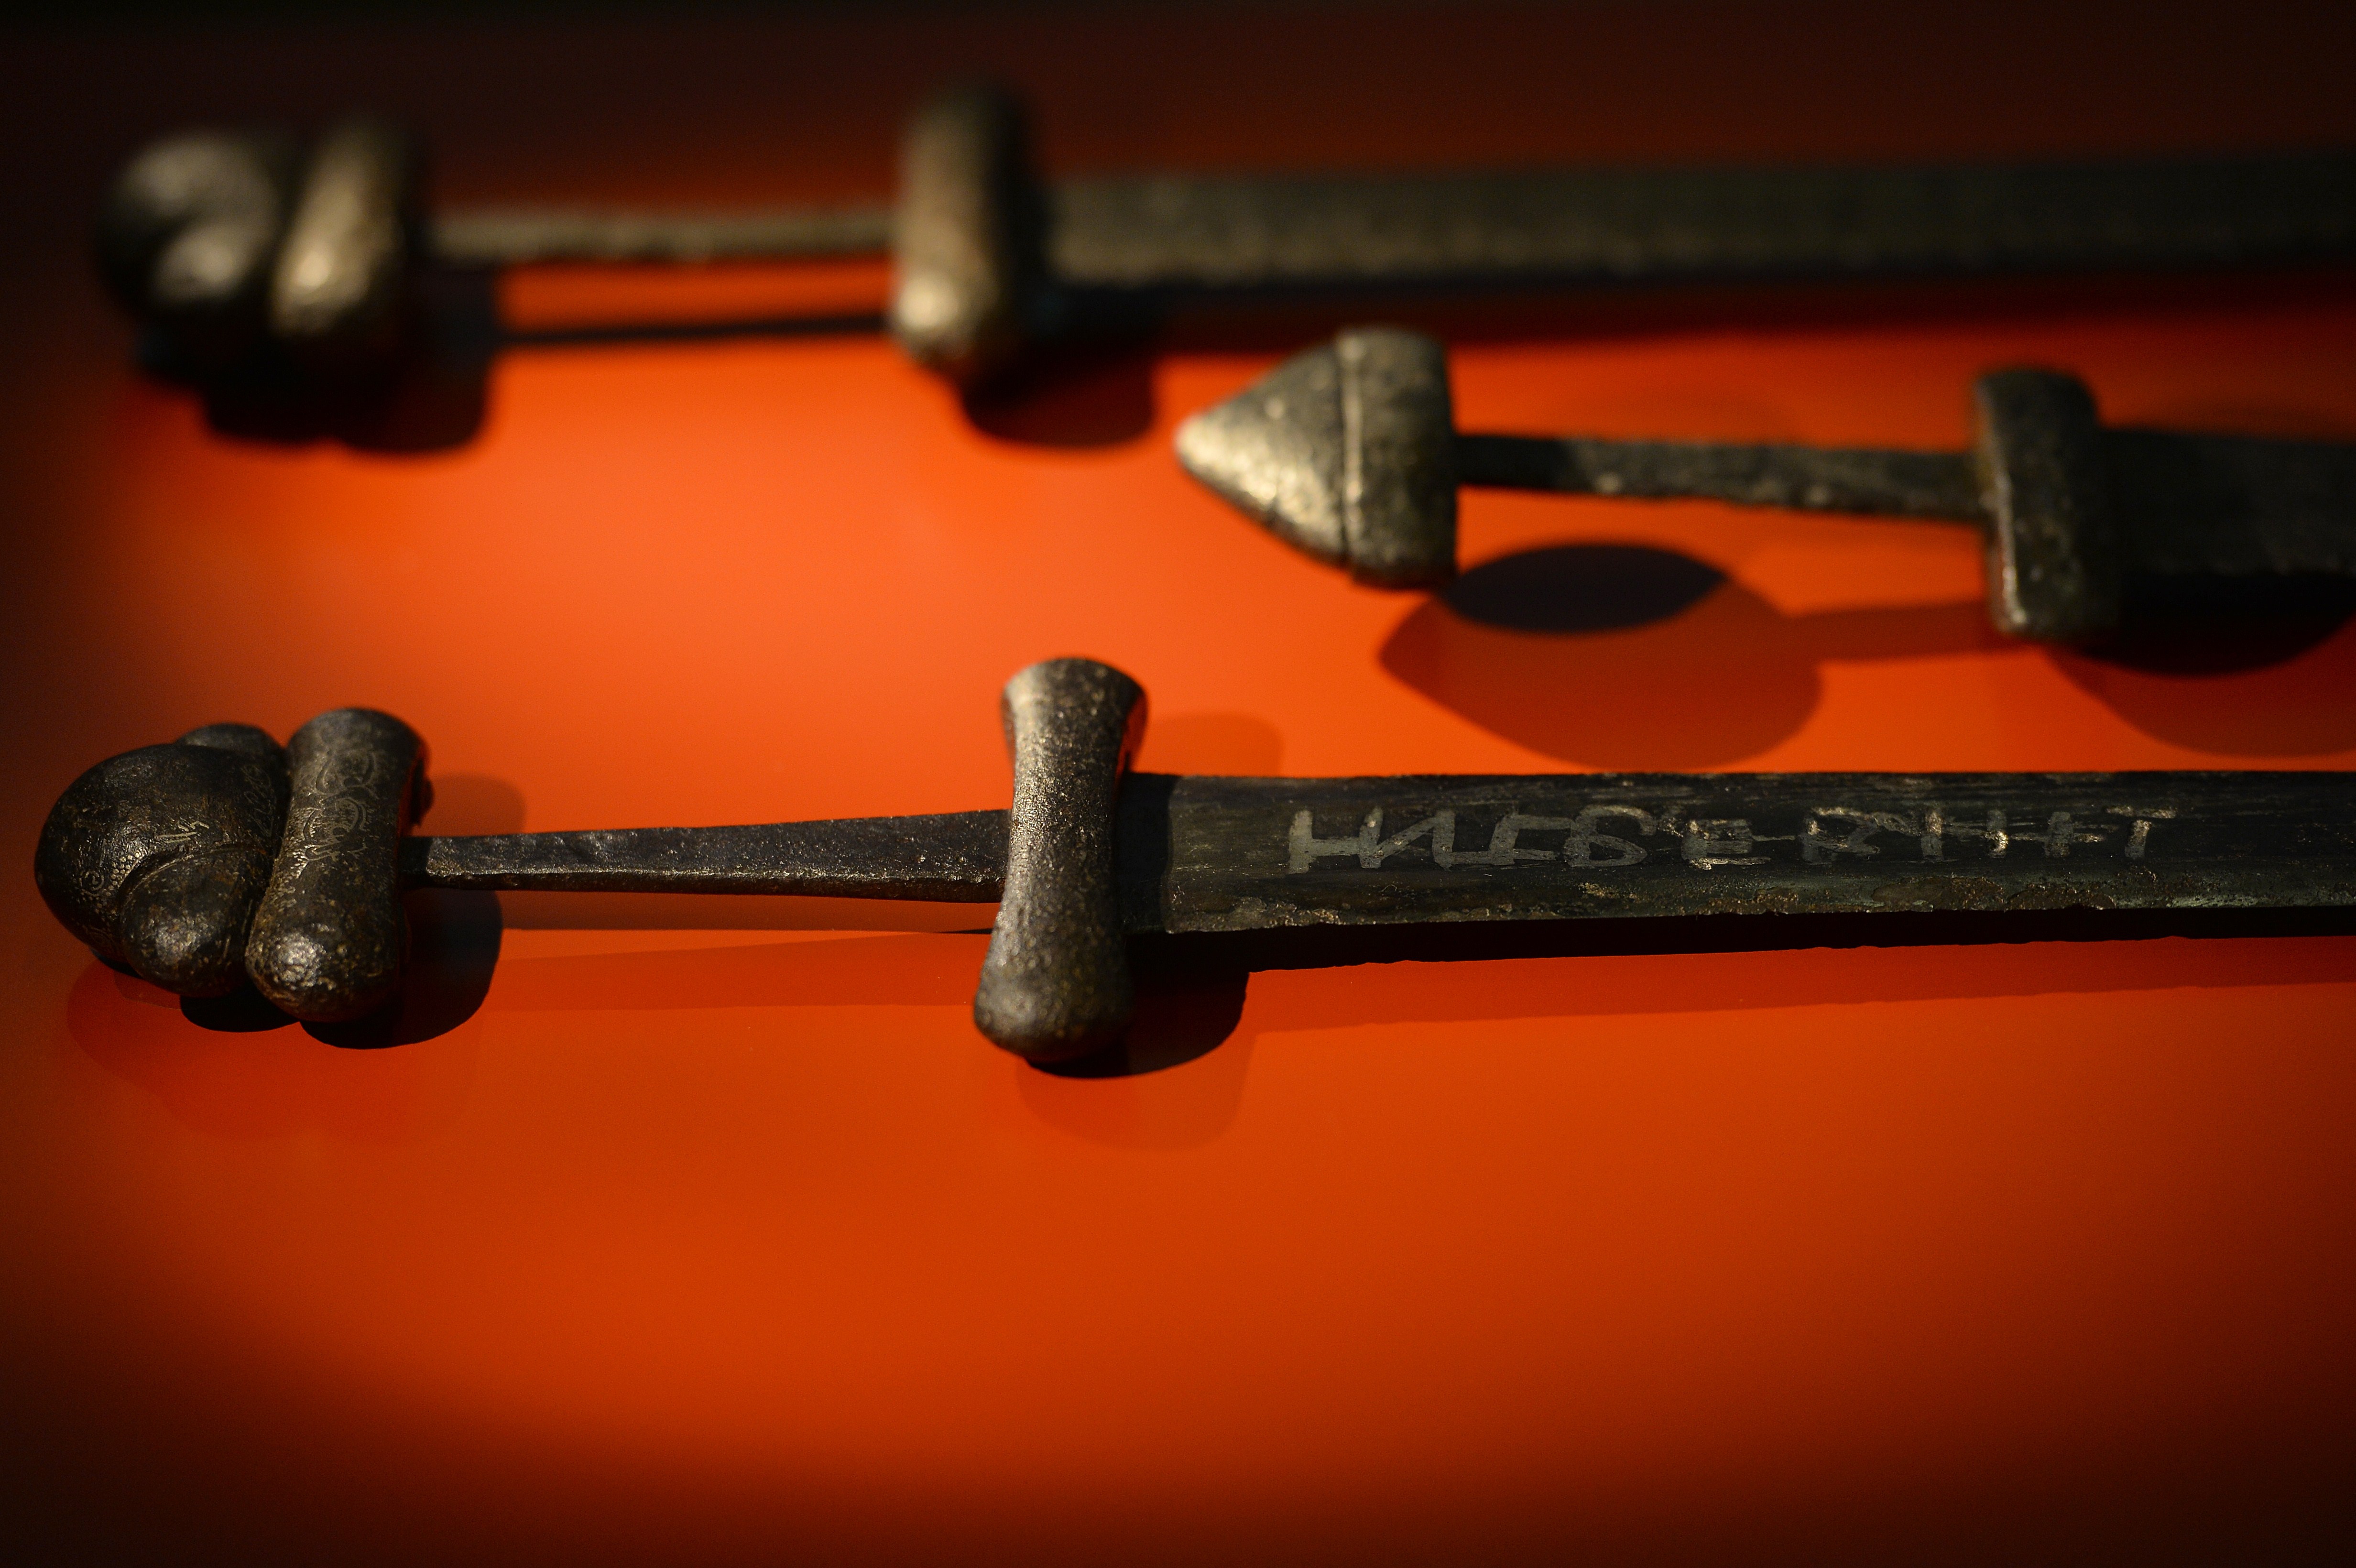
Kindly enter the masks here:
[[888, 325], [973, 384], [1206, 292], [2172, 271], [2356, 254], [2356, 155], [1958, 165], [1150, 174], [1044, 181], [1023, 108], [942, 94], [893, 202], [768, 212], [424, 205], [412, 137], [193, 132], [137, 153], [99, 224], [115, 297], [198, 374], [396, 353], [424, 266], [884, 254]]

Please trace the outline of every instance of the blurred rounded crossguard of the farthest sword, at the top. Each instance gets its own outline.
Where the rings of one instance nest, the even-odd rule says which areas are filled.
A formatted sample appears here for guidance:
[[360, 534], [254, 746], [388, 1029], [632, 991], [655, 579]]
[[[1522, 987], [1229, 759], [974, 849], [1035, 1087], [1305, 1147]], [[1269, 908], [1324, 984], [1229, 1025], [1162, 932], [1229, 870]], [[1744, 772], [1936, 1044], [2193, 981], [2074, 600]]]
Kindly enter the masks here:
[[1044, 219], [1013, 94], [959, 87], [916, 113], [900, 153], [891, 294], [909, 358], [966, 386], [1023, 358], [1051, 304]]

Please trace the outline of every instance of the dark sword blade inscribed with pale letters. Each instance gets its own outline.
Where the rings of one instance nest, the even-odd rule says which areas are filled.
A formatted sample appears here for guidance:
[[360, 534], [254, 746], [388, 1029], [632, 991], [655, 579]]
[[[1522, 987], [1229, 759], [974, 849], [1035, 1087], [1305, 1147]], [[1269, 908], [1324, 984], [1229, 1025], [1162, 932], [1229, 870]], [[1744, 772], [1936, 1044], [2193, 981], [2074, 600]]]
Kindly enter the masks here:
[[1571, 775], [1124, 789], [1129, 930], [2356, 904], [2356, 775]]

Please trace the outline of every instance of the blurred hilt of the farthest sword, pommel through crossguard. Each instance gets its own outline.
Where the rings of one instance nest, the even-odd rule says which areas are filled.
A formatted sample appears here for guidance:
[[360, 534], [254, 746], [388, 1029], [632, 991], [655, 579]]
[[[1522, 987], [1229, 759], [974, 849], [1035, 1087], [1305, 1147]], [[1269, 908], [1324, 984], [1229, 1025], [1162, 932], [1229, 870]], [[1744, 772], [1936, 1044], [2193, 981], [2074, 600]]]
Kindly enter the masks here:
[[942, 94], [909, 122], [891, 226], [872, 212], [749, 219], [455, 214], [424, 210], [417, 139], [346, 120], [316, 144], [273, 132], [193, 132], [141, 148], [99, 212], [99, 271], [167, 365], [217, 377], [283, 358], [323, 381], [389, 370], [429, 259], [895, 257], [891, 327], [959, 381], [1013, 365], [1048, 332], [1046, 202], [1013, 97]]

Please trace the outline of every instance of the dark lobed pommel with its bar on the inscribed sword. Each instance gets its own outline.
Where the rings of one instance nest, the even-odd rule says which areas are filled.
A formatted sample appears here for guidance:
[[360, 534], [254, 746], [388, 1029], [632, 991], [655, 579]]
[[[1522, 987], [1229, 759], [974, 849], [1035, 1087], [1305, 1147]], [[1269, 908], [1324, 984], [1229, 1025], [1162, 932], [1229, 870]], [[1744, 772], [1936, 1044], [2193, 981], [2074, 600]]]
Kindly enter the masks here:
[[108, 963], [179, 996], [252, 984], [309, 1022], [360, 1017], [401, 984], [398, 845], [424, 742], [339, 709], [280, 749], [210, 725], [99, 763], [49, 810], [33, 881]]

